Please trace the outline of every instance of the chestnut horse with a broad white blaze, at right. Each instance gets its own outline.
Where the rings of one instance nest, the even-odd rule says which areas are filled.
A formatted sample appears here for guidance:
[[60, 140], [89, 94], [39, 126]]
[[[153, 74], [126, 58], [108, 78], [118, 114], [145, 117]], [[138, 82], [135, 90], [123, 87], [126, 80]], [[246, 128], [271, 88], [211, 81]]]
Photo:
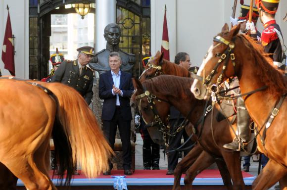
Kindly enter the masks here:
[[[207, 89], [216, 83], [221, 73], [223, 80], [238, 76], [242, 94], [253, 91], [253, 94], [244, 95], [243, 98], [251, 118], [258, 125], [258, 148], [269, 157], [269, 162], [253, 182], [253, 189], [266, 190], [280, 180], [281, 188], [287, 190], [287, 99], [283, 100], [279, 111], [273, 110], [278, 99], [287, 93], [286, 78], [272, 66], [272, 60], [267, 58], [263, 47], [245, 35], [238, 35], [238, 32], [239, 26], [229, 32], [227, 24], [224, 25], [198, 71], [201, 77], [204, 77], [204, 73], [209, 75], [206, 77], [208, 80], [195, 80], [191, 91], [198, 99], [208, 98]], [[233, 51], [235, 59], [231, 61], [227, 56], [226, 61], [219, 61], [226, 50]], [[222, 67], [224, 62], [225, 70]], [[218, 67], [212, 69], [215, 64]], [[271, 113], [275, 118], [269, 127], [266, 121]], [[266, 133], [265, 139], [263, 133]]]

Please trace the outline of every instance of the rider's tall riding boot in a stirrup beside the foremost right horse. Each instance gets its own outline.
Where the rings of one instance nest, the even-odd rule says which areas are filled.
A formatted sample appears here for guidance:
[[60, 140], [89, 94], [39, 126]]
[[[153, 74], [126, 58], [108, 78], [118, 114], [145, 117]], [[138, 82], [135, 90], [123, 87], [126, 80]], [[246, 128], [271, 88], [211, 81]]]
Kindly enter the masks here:
[[[250, 116], [248, 111], [245, 108], [245, 104], [242, 97], [237, 99], [237, 129], [238, 135], [240, 138], [240, 142], [248, 142], [249, 140], [249, 125], [250, 125]], [[240, 150], [240, 143], [238, 138], [235, 138], [233, 142], [224, 144], [224, 148], [232, 149], [232, 150]]]

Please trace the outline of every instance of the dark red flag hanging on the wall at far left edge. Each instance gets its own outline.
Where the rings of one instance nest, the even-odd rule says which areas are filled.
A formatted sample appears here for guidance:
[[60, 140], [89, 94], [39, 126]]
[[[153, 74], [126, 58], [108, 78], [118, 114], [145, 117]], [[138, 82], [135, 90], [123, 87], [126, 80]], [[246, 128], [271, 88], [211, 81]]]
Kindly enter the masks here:
[[8, 9], [4, 42], [2, 47], [2, 61], [5, 65], [4, 68], [7, 69], [11, 73], [11, 75], [15, 76], [14, 47], [13, 47], [12, 28], [11, 28], [9, 9]]

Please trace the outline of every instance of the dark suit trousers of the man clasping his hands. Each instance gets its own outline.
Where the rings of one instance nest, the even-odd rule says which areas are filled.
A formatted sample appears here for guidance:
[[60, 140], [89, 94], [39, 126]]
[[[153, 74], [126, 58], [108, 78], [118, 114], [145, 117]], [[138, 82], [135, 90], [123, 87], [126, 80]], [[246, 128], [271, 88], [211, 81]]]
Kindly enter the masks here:
[[[123, 168], [131, 169], [132, 164], [132, 149], [131, 149], [131, 120], [124, 120], [121, 116], [121, 110], [117, 107], [112, 120], [103, 120], [103, 134], [106, 140], [109, 142], [111, 148], [114, 148], [117, 126], [119, 127], [122, 150], [123, 150]], [[112, 164], [110, 163], [110, 169]]]

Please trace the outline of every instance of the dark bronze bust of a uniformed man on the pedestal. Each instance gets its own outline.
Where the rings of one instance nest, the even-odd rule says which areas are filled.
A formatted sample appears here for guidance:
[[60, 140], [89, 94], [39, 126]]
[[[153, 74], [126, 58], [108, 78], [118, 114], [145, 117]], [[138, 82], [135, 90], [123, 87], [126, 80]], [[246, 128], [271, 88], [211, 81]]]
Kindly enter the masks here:
[[106, 48], [102, 49], [101, 51], [97, 52], [94, 58], [89, 63], [89, 66], [98, 71], [99, 74], [102, 74], [108, 70], [109, 67], [109, 53], [116, 51], [120, 54], [122, 58], [121, 70], [126, 72], [131, 72], [136, 58], [134, 54], [127, 53], [119, 49], [120, 37], [121, 37], [121, 30], [120, 27], [115, 24], [111, 23], [108, 24], [104, 28], [104, 38], [107, 41]]

